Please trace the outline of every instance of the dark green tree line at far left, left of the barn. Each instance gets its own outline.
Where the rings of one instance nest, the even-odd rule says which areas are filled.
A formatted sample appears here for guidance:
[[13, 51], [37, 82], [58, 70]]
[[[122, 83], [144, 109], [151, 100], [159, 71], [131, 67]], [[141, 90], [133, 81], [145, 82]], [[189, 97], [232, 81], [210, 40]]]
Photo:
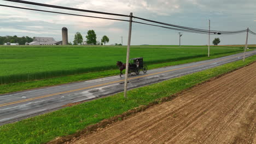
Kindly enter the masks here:
[[30, 37], [17, 37], [17, 35], [14, 36], [0, 36], [0, 45], [3, 45], [4, 43], [19, 43], [20, 45], [25, 45], [25, 43], [31, 43], [33, 41], [33, 38]]

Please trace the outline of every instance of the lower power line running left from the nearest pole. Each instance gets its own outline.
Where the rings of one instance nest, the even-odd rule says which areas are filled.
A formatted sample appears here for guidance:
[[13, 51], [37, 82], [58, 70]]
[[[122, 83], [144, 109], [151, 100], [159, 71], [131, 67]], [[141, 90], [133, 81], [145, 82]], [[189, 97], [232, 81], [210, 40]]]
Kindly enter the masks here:
[[55, 14], [65, 14], [65, 15], [73, 15], [73, 16], [93, 17], [93, 18], [97, 18], [97, 19], [107, 19], [107, 20], [117, 20], [117, 21], [129, 21], [129, 20], [121, 20], [121, 19], [112, 19], [112, 18], [107, 18], [107, 17], [88, 16], [88, 15], [78, 15], [78, 14], [61, 13], [61, 12], [56, 12], [56, 11], [48, 11], [48, 10], [39, 10], [39, 9], [30, 9], [30, 8], [14, 7], [14, 6], [3, 5], [3, 4], [0, 4], [0, 6], [2, 6], [2, 7], [9, 7], [9, 8], [17, 8], [17, 9], [34, 10], [34, 11], [43, 11], [43, 12], [46, 12], [46, 13], [55, 13]]

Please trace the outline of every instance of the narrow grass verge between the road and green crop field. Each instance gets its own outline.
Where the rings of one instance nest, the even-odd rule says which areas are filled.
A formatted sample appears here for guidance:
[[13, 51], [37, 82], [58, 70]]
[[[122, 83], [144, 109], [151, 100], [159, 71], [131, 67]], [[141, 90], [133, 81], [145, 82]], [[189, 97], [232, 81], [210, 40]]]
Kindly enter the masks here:
[[[170, 65], [178, 65], [178, 64], [184, 64], [184, 63], [204, 61], [207, 59], [213, 59], [213, 58], [234, 55], [236, 53], [240, 53], [240, 51], [232, 52], [232, 53], [225, 53], [225, 54], [221, 54], [221, 55], [213, 55], [211, 57], [205, 56], [205, 57], [184, 59], [181, 61], [150, 64], [150, 65], [148, 65], [148, 69], [155, 69], [155, 68], [167, 67]], [[123, 73], [124, 73], [124, 71], [123, 71]], [[97, 79], [97, 78], [106, 77], [106, 76], [114, 76], [114, 75], [118, 75], [118, 74], [119, 74], [119, 70], [115, 69], [115, 70], [104, 70], [104, 71], [97, 71], [97, 72], [85, 73], [85, 74], [61, 76], [61, 77], [36, 80], [36, 81], [8, 83], [8, 84], [0, 85], [0, 94], [24, 91], [26, 89], [33, 89], [33, 88], [38, 88], [38, 87], [60, 85], [60, 84], [69, 83], [69, 82], [92, 80], [92, 79]]]

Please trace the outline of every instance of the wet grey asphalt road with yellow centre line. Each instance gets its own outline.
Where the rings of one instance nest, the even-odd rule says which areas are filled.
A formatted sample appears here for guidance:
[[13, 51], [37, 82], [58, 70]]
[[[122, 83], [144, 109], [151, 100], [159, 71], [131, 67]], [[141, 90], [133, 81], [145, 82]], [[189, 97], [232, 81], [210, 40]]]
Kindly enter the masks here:
[[[246, 57], [256, 55], [256, 50], [246, 52]], [[174, 77], [217, 67], [243, 58], [243, 53], [207, 61], [175, 65], [148, 70], [146, 74], [130, 75], [128, 89], [146, 86]], [[118, 71], [117, 71], [118, 73]], [[27, 117], [61, 109], [67, 104], [91, 100], [124, 90], [124, 76], [105, 77], [90, 81], [32, 89], [0, 95], [0, 125], [19, 121]], [[129, 97], [129, 95], [128, 95]]]

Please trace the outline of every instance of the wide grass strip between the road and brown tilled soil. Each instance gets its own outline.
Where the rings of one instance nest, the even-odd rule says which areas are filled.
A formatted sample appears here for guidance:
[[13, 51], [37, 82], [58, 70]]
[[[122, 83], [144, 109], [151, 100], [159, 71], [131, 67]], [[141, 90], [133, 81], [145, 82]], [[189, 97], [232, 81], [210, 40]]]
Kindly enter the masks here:
[[45, 143], [57, 136], [74, 134], [88, 125], [120, 115], [135, 107], [148, 105], [157, 99], [170, 97], [184, 89], [210, 80], [212, 77], [229, 73], [255, 61], [256, 56], [248, 57], [245, 62], [236, 61], [176, 79], [132, 89], [127, 92], [127, 99], [123, 98], [123, 93], [118, 93], [20, 122], [2, 125], [0, 127], [0, 143]]

